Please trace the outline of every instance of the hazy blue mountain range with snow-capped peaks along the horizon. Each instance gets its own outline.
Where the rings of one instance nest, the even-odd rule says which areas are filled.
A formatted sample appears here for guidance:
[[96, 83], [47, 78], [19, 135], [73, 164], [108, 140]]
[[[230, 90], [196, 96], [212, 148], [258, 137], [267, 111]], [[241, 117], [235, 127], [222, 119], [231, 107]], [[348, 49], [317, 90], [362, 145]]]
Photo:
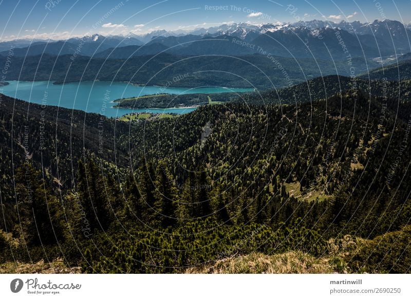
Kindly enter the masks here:
[[0, 55], [14, 46], [15, 55], [76, 54], [98, 58], [128, 58], [160, 52], [183, 55], [265, 53], [296, 58], [386, 58], [411, 52], [410, 25], [375, 20], [334, 23], [300, 21], [253, 25], [223, 24], [191, 31], [157, 30], [144, 35], [87, 35], [65, 41], [15, 40], [0, 43]]

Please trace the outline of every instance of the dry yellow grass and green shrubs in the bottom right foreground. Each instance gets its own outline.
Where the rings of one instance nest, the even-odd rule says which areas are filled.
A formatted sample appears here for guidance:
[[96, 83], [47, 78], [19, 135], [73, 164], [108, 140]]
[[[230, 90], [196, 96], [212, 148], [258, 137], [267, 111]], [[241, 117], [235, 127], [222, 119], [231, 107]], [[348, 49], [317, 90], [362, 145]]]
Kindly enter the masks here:
[[409, 237], [408, 225], [372, 240], [350, 235], [330, 239], [328, 254], [321, 257], [302, 251], [272, 255], [255, 252], [228, 256], [185, 273], [407, 273], [411, 267]]

